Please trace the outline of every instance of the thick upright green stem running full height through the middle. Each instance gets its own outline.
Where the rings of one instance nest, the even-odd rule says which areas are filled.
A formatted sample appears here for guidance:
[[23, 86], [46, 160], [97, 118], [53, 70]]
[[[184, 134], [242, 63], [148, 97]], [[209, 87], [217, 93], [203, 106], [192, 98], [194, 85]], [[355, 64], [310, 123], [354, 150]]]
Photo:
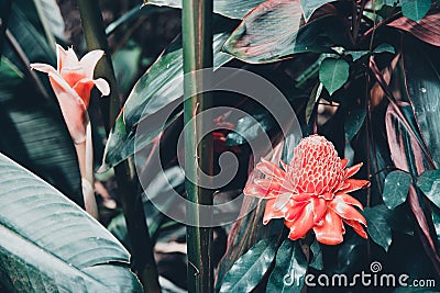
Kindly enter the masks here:
[[[197, 93], [207, 82], [205, 76], [190, 74], [198, 69], [212, 68], [212, 0], [183, 1], [183, 44], [185, 71], [185, 187], [188, 201], [196, 205], [188, 205], [187, 218], [195, 226], [187, 227], [188, 246], [188, 292], [213, 292], [212, 268], [212, 228], [199, 227], [200, 211], [198, 205], [212, 204], [212, 191], [200, 187], [198, 172], [212, 174], [212, 139], [204, 132], [204, 117], [196, 115], [209, 109], [211, 98], [209, 93]], [[200, 169], [198, 169], [200, 168]], [[190, 179], [196, 179], [193, 182]]]

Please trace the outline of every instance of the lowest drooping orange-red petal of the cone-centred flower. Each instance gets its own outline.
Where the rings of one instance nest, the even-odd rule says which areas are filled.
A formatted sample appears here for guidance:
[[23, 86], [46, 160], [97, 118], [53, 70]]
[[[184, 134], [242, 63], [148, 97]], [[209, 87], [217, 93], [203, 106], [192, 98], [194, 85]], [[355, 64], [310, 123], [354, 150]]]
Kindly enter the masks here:
[[321, 225], [314, 227], [317, 240], [326, 245], [337, 245], [342, 243], [344, 234], [342, 219], [332, 210], [327, 210]]

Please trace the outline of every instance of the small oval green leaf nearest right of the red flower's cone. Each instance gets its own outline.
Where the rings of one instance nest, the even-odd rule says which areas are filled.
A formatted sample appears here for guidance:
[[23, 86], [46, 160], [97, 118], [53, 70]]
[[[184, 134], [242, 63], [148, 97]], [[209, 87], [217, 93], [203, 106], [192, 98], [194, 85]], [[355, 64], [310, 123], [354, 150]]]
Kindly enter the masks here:
[[411, 176], [400, 170], [387, 174], [382, 196], [388, 209], [394, 210], [406, 201], [411, 182]]

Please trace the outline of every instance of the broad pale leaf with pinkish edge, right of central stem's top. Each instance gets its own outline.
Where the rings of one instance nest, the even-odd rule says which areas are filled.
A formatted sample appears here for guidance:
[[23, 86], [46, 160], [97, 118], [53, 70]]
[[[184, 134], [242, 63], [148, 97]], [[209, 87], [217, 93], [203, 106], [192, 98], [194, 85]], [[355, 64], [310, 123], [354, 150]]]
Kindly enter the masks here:
[[332, 15], [304, 24], [298, 0], [270, 0], [243, 19], [223, 50], [251, 64], [274, 63], [306, 52], [330, 53], [333, 42], [329, 35], [339, 24]]

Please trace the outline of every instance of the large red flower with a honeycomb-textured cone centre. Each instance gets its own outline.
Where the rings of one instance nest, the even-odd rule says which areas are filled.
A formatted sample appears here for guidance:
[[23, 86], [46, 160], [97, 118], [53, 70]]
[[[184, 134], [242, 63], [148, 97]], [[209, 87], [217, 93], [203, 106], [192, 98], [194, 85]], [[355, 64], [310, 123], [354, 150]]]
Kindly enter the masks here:
[[345, 168], [333, 144], [323, 136], [302, 138], [294, 151], [290, 165], [280, 167], [265, 159], [256, 165], [264, 179], [256, 179], [244, 194], [266, 199], [263, 223], [284, 218], [290, 229], [289, 238], [302, 238], [312, 229], [318, 241], [327, 245], [342, 243], [343, 223], [366, 238], [366, 221], [354, 207], [362, 204], [348, 193], [367, 188], [367, 180], [351, 179], [362, 162]]

